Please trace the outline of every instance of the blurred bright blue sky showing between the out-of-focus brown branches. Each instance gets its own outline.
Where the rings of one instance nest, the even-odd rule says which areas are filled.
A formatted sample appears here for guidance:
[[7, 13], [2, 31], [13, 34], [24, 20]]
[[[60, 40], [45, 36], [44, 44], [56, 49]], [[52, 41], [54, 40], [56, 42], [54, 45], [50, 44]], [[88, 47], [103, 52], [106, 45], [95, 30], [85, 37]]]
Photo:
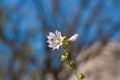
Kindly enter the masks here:
[[[100, 28], [103, 28], [103, 33], [100, 33], [102, 35], [110, 30], [119, 29], [117, 27], [120, 27], [120, 0], [86, 0], [82, 4], [83, 1], [58, 0], [59, 11], [57, 12], [53, 9], [54, 0], [0, 0], [0, 8], [4, 9], [7, 17], [4, 36], [9, 41], [16, 37], [16, 49], [19, 49], [21, 43], [28, 37], [28, 33], [32, 31], [32, 36], [28, 37], [27, 41], [32, 46], [31, 56], [36, 58], [38, 67], [44, 68], [48, 32], [42, 31], [45, 26], [38, 17], [39, 14], [44, 17], [51, 31], [58, 29], [65, 34], [63, 29], [66, 30], [72, 25], [80, 9], [78, 28], [74, 33], [80, 35], [79, 40], [82, 39], [85, 45], [99, 40]], [[17, 34], [13, 31], [14, 26], [18, 30]], [[117, 30], [111, 40], [120, 41], [120, 30]], [[7, 65], [10, 58], [12, 58], [10, 47], [0, 41], [0, 61], [4, 59], [4, 63], [0, 66]], [[52, 65], [58, 67], [58, 62], [60, 63], [60, 59], [57, 57], [53, 59]]]

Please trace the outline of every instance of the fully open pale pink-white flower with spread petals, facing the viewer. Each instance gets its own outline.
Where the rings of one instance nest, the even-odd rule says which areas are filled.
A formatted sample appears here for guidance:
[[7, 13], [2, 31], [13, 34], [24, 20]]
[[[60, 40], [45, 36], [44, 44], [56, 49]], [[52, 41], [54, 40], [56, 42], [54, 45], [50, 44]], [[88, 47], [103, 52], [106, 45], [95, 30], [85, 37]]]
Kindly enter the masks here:
[[53, 50], [59, 49], [59, 47], [62, 45], [63, 39], [60, 31], [56, 30], [55, 33], [49, 32], [47, 38], [48, 38], [47, 42], [49, 43], [48, 47], [53, 48]]

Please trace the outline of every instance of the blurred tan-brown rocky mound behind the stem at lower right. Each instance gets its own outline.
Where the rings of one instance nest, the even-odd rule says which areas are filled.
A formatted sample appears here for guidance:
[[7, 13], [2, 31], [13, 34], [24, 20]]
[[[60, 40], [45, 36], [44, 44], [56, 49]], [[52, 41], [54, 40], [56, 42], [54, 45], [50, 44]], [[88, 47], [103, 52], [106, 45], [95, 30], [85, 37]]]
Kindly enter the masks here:
[[[120, 43], [96, 42], [80, 52], [77, 71], [86, 75], [85, 80], [120, 80]], [[68, 80], [77, 80], [73, 75]]]

